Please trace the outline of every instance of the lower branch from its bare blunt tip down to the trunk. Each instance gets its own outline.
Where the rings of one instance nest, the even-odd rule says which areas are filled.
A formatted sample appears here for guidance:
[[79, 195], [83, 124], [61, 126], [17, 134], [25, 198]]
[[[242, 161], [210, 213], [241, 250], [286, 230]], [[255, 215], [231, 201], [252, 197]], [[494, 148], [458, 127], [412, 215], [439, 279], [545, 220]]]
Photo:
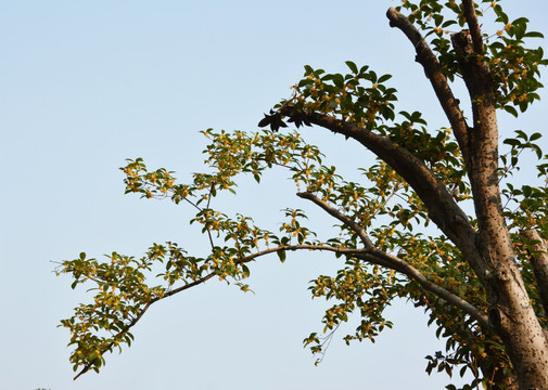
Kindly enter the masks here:
[[327, 211], [329, 214], [336, 218], [341, 222], [347, 224], [354, 232], [356, 232], [356, 234], [359, 235], [359, 237], [366, 245], [366, 248], [355, 253], [357, 258], [362, 259], [364, 261], [367, 261], [369, 263], [386, 266], [388, 269], [403, 273], [410, 280], [419, 283], [425, 290], [432, 292], [436, 297], [444, 299], [448, 303], [455, 306], [456, 308], [469, 314], [471, 317], [476, 320], [477, 323], [484, 329], [488, 328], [488, 318], [486, 313], [484, 313], [482, 310], [477, 309], [473, 304], [469, 303], [464, 299], [460, 298], [459, 296], [436, 285], [435, 283], [432, 283], [431, 281], [428, 280], [426, 276], [424, 276], [419, 270], [409, 264], [407, 261], [374, 248], [371, 240], [367, 236], [367, 233], [364, 230], [364, 227], [361, 227], [359, 224], [357, 224], [352, 219], [346, 217], [344, 213], [340, 212], [334, 207], [321, 200], [311, 193], [298, 193], [297, 196], [311, 200], [320, 208], [322, 208], [324, 211]]

